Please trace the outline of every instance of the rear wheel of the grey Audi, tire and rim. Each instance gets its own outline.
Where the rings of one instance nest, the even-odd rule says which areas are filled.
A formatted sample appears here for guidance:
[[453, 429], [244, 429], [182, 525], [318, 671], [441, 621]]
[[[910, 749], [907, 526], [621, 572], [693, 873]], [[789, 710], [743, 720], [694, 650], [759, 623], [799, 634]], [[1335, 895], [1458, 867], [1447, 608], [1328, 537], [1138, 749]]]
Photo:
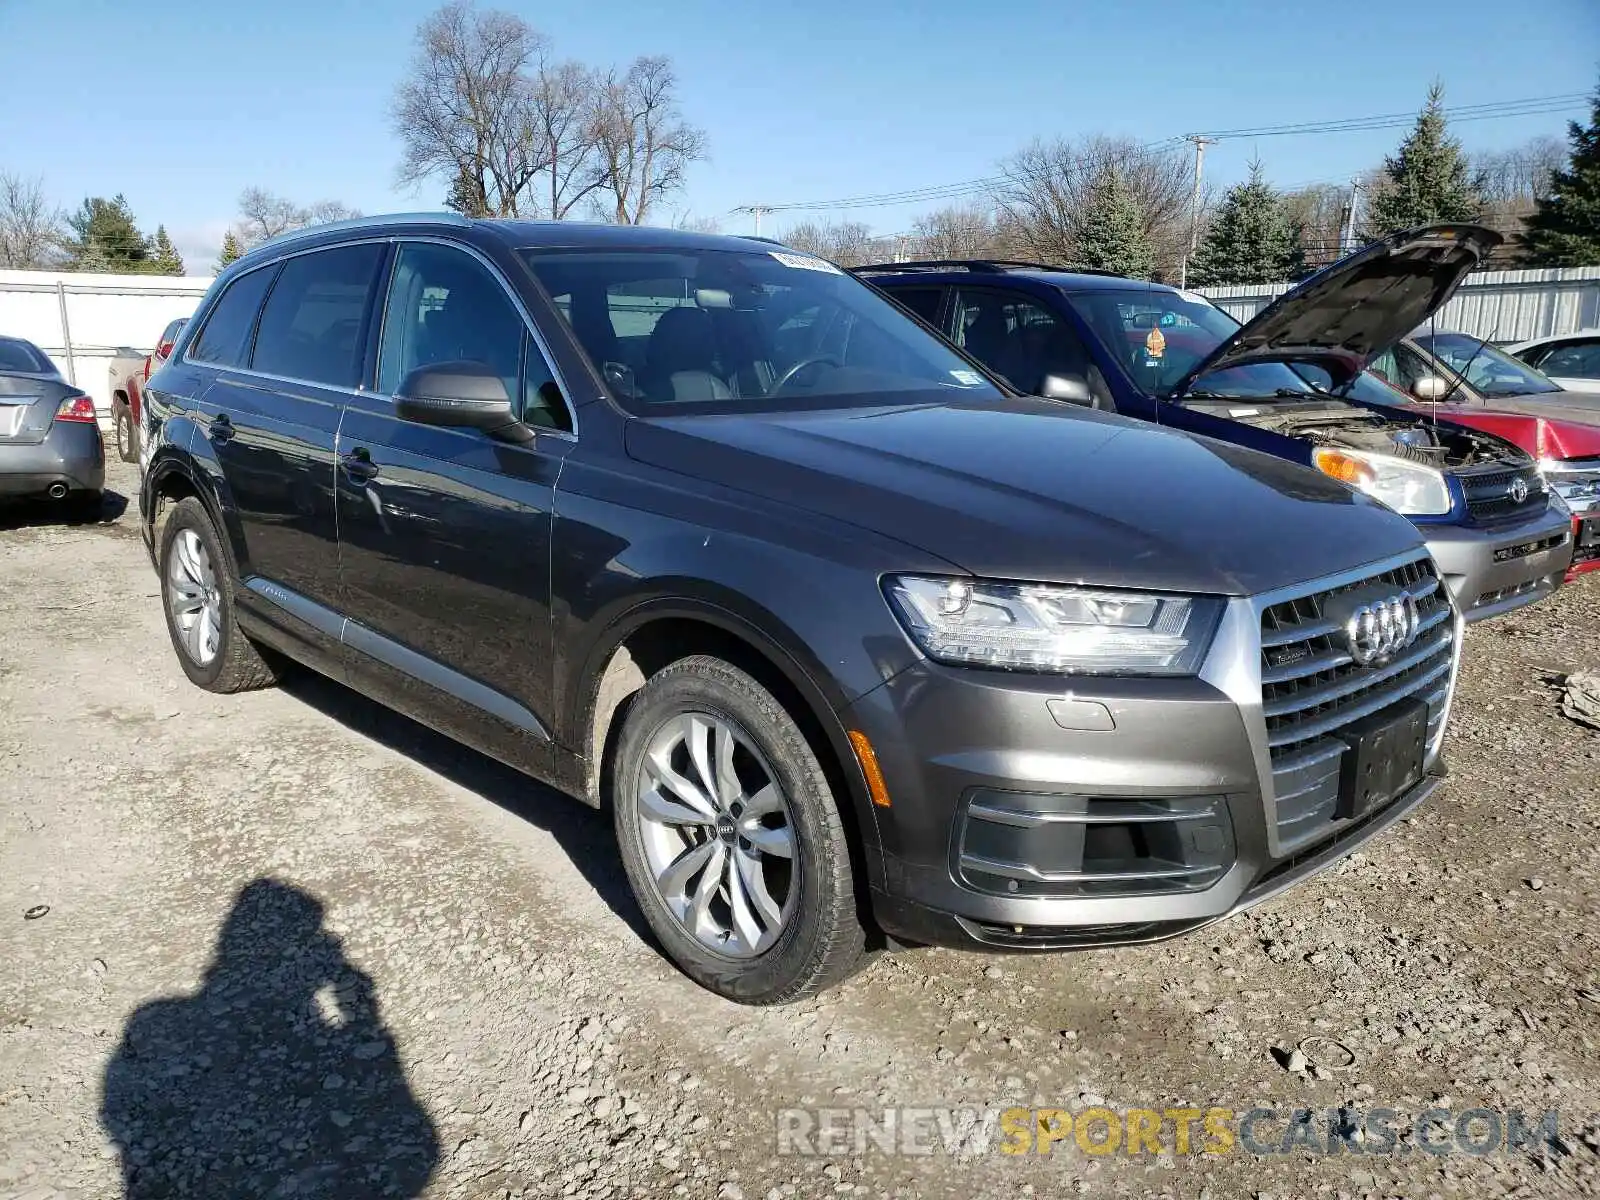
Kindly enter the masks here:
[[250, 691], [274, 683], [278, 667], [238, 627], [234, 574], [205, 506], [178, 501], [162, 525], [162, 608], [178, 664], [206, 691]]

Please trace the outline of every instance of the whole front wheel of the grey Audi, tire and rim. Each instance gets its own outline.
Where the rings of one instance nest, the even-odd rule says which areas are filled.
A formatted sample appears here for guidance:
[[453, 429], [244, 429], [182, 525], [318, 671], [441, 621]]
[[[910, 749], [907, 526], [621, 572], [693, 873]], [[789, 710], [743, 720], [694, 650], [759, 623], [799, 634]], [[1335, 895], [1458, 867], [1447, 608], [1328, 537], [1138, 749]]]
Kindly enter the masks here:
[[611, 771], [618, 846], [667, 955], [746, 1005], [845, 979], [864, 949], [834, 789], [789, 712], [722, 659], [666, 667]]

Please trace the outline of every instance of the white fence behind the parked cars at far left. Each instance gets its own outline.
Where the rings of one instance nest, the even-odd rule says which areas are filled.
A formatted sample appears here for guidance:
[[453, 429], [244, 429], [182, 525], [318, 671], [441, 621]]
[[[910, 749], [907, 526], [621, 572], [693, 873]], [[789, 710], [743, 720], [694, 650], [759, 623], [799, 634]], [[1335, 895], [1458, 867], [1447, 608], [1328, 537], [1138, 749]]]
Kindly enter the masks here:
[[208, 275], [0, 270], [0, 334], [26, 338], [48, 354], [67, 379], [94, 397], [104, 418], [117, 347], [149, 354], [166, 322], [189, 317], [210, 286]]

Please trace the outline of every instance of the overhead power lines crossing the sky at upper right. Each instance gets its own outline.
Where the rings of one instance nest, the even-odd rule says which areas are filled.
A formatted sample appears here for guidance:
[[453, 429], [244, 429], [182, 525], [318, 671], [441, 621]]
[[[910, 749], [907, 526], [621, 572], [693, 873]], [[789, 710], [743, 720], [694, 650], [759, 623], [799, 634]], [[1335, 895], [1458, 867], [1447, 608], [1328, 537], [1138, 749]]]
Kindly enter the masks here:
[[[1586, 93], [1566, 93], [1560, 96], [1531, 96], [1514, 101], [1491, 101], [1486, 104], [1462, 104], [1451, 109], [1445, 109], [1445, 117], [1453, 122], [1501, 120], [1507, 117], [1528, 117], [1549, 112], [1563, 112], [1587, 101], [1589, 96]], [[1162, 138], [1160, 141], [1146, 142], [1144, 146], [1139, 146], [1134, 150], [1131, 150], [1126, 157], [1142, 158], [1142, 157], [1157, 157], [1162, 154], [1171, 154], [1176, 146], [1179, 146], [1184, 141], [1192, 141], [1194, 138], [1210, 138], [1210, 139], [1293, 138], [1293, 136], [1317, 134], [1317, 133], [1354, 133], [1365, 130], [1400, 128], [1416, 122], [1416, 118], [1418, 114], [1413, 110], [1413, 112], [1376, 114], [1371, 117], [1347, 117], [1347, 118], [1325, 120], [1325, 122], [1262, 125], [1243, 130], [1205, 130], [1195, 134]], [[1085, 165], [1091, 162], [1094, 157], [1096, 155], [1085, 155], [1080, 158], [1074, 158], [1072, 163]], [[1040, 174], [1042, 174], [1040, 171], [1021, 171], [1021, 173], [1003, 171], [1000, 174], [984, 176], [981, 179], [963, 179], [949, 184], [928, 184], [923, 187], [907, 187], [898, 192], [848, 195], [834, 200], [797, 200], [782, 205], [746, 205], [733, 211], [749, 213], [754, 208], [760, 208], [763, 213], [814, 213], [814, 211], [837, 211], [851, 208], [890, 208], [893, 205], [926, 203], [930, 200], [958, 200], [962, 197], [989, 192], [994, 187], [1005, 182], [1016, 182], [1018, 179], [1026, 181], [1030, 176], [1038, 178]]]

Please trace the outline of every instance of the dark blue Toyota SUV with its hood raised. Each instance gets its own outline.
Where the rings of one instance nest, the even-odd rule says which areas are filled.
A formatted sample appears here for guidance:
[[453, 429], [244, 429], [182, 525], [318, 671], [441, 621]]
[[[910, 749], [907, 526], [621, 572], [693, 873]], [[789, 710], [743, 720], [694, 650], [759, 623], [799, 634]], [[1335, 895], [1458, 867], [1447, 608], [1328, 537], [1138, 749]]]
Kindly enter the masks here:
[[1422, 530], [1456, 603], [1482, 621], [1555, 590], [1573, 552], [1568, 514], [1525, 451], [1373, 403], [1373, 384], [1387, 389], [1363, 371], [1499, 240], [1475, 226], [1397, 234], [1243, 326], [1192, 291], [1040, 264], [856, 274], [1021, 392], [1262, 450], [1360, 488]]

